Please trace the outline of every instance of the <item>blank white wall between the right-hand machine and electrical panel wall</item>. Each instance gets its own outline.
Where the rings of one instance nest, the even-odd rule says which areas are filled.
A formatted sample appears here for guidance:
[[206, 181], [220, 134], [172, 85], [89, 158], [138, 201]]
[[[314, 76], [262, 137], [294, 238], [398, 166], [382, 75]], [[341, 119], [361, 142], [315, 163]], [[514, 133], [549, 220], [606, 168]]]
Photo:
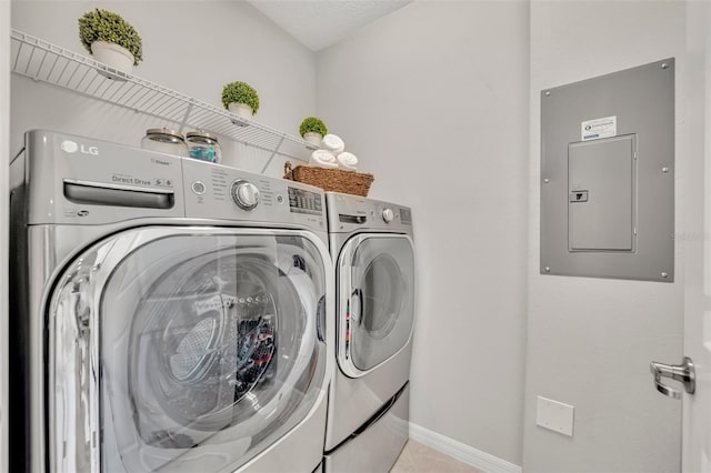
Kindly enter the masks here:
[[318, 54], [318, 113], [413, 209], [411, 421], [521, 463], [528, 2], [413, 2]]

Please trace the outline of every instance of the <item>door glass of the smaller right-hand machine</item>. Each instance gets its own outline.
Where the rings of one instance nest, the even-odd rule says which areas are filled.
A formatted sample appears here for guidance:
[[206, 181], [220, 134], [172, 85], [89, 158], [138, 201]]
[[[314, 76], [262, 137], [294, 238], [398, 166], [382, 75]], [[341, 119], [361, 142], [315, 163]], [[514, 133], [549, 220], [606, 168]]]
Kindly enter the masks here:
[[368, 371], [400, 351], [412, 333], [412, 243], [401, 235], [360, 238], [350, 271], [350, 356]]

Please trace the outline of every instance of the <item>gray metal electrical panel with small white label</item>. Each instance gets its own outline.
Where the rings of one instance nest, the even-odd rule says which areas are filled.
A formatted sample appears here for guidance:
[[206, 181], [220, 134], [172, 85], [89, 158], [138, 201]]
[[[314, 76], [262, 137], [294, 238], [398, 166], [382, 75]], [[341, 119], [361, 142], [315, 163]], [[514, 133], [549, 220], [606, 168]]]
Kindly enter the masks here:
[[541, 273], [672, 282], [674, 59], [541, 92]]

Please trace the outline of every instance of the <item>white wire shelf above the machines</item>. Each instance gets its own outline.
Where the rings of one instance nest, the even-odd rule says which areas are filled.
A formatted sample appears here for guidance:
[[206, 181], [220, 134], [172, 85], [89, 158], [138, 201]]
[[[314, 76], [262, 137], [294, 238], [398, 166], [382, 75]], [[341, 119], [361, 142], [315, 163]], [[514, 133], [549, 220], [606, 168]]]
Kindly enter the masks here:
[[176, 92], [91, 58], [12, 30], [12, 72], [184, 128], [202, 129], [276, 155], [308, 161], [316, 147], [253, 120]]

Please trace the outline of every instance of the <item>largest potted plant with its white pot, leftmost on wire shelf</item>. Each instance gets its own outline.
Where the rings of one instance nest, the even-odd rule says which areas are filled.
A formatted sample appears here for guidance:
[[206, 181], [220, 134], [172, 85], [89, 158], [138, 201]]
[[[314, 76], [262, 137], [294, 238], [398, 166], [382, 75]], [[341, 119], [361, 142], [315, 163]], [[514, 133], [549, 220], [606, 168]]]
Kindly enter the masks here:
[[108, 10], [88, 11], [79, 19], [79, 39], [99, 62], [131, 73], [143, 60], [143, 44], [136, 29]]

